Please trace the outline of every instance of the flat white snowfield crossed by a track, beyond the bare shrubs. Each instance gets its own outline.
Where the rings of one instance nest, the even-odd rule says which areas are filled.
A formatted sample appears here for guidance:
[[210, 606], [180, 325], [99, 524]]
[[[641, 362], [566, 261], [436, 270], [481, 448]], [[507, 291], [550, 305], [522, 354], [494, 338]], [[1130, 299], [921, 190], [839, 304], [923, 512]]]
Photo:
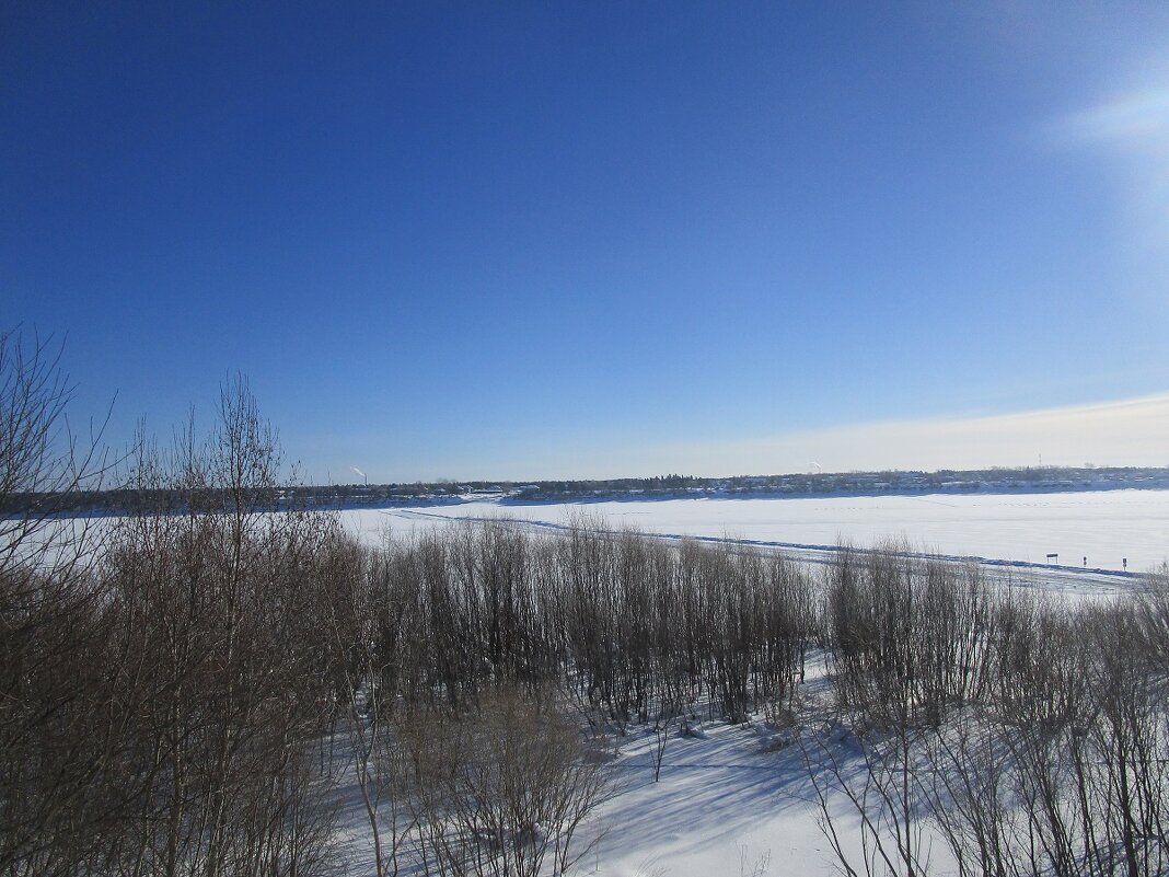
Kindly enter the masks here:
[[562, 526], [574, 515], [653, 533], [748, 539], [787, 546], [867, 547], [899, 540], [919, 551], [992, 560], [1146, 572], [1169, 558], [1169, 491], [922, 495], [774, 499], [659, 499], [518, 503], [471, 499], [455, 505], [344, 512], [373, 538], [451, 518], [497, 517]]

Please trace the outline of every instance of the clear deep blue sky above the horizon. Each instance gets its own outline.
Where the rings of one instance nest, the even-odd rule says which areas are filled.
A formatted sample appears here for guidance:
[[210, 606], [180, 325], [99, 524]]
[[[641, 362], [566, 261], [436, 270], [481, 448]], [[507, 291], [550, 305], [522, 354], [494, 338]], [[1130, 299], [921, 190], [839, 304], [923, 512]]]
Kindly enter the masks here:
[[240, 371], [316, 482], [1078, 463], [1169, 391], [1164, 5], [243, 6], [0, 11], [0, 323], [115, 443]]

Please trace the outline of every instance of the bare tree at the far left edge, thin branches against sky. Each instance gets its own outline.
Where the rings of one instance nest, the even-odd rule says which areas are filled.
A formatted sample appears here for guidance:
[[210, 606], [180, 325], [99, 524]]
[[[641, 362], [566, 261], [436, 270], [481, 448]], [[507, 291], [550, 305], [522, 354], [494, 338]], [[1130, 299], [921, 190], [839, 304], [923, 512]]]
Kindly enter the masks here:
[[105, 457], [69, 429], [61, 350], [0, 333], [0, 872], [90, 859], [119, 805], [88, 796], [118, 720], [96, 711], [110, 626], [87, 529], [57, 516]]

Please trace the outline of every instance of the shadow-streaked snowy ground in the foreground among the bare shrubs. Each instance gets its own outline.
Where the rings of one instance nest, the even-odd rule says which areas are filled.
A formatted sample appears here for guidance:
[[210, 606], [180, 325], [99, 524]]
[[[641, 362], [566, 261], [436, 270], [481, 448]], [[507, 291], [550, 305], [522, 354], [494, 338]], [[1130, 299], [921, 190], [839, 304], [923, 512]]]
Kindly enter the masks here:
[[[822, 669], [822, 668], [821, 668]], [[817, 686], [816, 668], [809, 681]], [[826, 877], [839, 863], [819, 829], [821, 812], [798, 745], [762, 718], [746, 725], [703, 721], [696, 736], [677, 725], [655, 781], [656, 738], [630, 725], [616, 738], [611, 795], [581, 827], [587, 850], [574, 873], [595, 877]], [[343, 744], [344, 746], [345, 744]], [[836, 744], [848, 758], [849, 743]], [[373, 875], [368, 821], [353, 783], [341, 788], [334, 833], [339, 871]], [[862, 861], [860, 820], [843, 795], [830, 808], [853, 864]], [[576, 855], [576, 854], [574, 854]], [[941, 861], [946, 850], [939, 842]], [[415, 862], [407, 855], [407, 873]], [[941, 871], [945, 872], [945, 869]]]

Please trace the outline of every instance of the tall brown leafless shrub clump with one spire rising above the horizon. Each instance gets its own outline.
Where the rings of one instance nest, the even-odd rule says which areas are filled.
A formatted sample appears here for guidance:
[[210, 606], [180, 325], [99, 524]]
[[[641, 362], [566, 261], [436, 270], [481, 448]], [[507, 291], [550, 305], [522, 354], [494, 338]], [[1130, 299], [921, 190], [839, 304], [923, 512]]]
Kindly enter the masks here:
[[111, 536], [123, 699], [137, 704], [122, 759], [136, 789], [118, 872], [312, 873], [328, 808], [311, 765], [347, 655], [316, 622], [359, 574], [336, 520], [268, 513], [279, 461], [242, 381], [224, 388], [206, 442], [146, 456], [147, 509]]

